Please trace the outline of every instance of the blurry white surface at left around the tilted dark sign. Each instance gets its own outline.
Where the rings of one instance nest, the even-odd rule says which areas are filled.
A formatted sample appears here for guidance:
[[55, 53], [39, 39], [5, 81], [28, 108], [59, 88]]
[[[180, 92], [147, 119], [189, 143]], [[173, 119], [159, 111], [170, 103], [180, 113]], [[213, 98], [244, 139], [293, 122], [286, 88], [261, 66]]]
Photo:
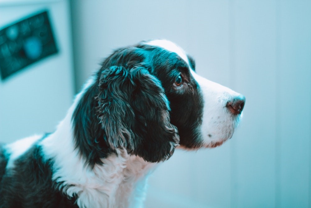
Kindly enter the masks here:
[[0, 0], [0, 29], [48, 10], [58, 53], [0, 80], [0, 143], [53, 132], [74, 96], [69, 1]]

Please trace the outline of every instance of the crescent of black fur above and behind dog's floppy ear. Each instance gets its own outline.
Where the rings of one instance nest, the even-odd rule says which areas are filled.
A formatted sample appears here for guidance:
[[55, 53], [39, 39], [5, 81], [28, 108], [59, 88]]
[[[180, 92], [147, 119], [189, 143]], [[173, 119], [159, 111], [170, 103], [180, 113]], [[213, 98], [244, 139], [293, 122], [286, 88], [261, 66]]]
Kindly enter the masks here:
[[91, 168], [95, 164], [102, 164], [101, 158], [106, 158], [116, 151], [109, 145], [107, 134], [102, 129], [98, 119], [96, 108], [99, 95], [100, 77], [104, 70], [111, 66], [133, 67], [142, 62], [142, 54], [138, 54], [135, 48], [116, 50], [102, 64], [102, 68], [95, 75], [95, 83], [83, 94], [72, 116], [75, 147], [82, 157], [86, 159], [86, 165]]

